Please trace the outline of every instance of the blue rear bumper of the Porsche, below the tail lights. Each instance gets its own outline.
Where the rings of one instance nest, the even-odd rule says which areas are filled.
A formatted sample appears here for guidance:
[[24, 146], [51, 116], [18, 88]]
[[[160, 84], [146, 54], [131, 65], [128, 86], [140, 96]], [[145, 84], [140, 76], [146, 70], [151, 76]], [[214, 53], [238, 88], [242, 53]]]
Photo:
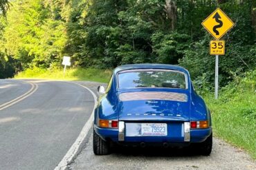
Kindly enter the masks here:
[[[168, 125], [169, 128], [169, 125]], [[172, 129], [172, 127], [170, 127]], [[185, 142], [184, 136], [180, 133], [181, 129], [170, 131], [167, 136], [125, 136], [124, 141], [118, 140], [118, 129], [101, 128], [94, 125], [94, 130], [103, 140], [110, 140], [118, 143], [190, 143], [190, 142], [203, 142], [212, 134], [212, 127], [208, 129], [190, 129], [190, 141]]]

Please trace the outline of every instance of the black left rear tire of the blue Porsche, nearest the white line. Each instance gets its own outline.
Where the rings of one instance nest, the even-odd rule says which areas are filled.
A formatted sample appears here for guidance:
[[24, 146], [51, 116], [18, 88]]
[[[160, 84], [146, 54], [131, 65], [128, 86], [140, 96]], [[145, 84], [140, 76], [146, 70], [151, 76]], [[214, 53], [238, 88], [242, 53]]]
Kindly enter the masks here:
[[110, 153], [109, 142], [102, 140], [93, 130], [93, 152], [95, 155], [102, 156]]

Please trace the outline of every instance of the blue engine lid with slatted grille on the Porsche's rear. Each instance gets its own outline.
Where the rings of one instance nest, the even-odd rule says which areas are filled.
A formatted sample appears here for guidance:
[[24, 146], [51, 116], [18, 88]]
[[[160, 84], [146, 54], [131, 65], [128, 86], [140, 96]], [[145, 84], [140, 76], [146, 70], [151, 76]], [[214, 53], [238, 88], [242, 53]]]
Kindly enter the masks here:
[[119, 120], [190, 120], [187, 94], [128, 92], [120, 94], [119, 100]]

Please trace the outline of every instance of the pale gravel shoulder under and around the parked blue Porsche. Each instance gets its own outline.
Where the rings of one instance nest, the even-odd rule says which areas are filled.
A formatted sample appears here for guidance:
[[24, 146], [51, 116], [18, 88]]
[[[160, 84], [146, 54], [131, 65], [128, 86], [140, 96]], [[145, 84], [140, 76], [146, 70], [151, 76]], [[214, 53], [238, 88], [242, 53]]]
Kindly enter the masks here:
[[[91, 130], [92, 131], [92, 130]], [[256, 169], [256, 162], [241, 149], [214, 138], [210, 156], [183, 149], [118, 148], [108, 156], [95, 156], [92, 135], [68, 169]]]

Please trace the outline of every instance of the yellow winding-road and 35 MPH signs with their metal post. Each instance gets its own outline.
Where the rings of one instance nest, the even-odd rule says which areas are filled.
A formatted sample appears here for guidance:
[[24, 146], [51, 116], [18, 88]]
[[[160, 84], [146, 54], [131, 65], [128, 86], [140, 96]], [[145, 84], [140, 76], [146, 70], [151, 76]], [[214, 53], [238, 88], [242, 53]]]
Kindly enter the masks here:
[[235, 24], [220, 8], [217, 8], [202, 22], [202, 25], [215, 39], [215, 41], [210, 41], [210, 55], [216, 57], [214, 97], [217, 99], [219, 89], [219, 55], [225, 55], [225, 41], [219, 39]]

